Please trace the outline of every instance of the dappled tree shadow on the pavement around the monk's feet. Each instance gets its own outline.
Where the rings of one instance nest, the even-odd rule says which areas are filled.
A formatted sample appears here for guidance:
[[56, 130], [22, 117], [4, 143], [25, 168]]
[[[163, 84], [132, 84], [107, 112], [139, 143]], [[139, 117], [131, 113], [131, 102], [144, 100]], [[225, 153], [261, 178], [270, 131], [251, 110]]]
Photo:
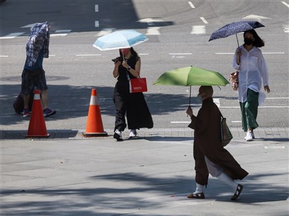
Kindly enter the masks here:
[[[143, 167], [142, 167], [143, 168]], [[264, 178], [287, 178], [287, 173], [264, 173], [250, 175], [244, 181], [244, 190], [239, 200], [231, 201], [231, 188], [219, 180], [210, 178], [204, 202], [228, 202], [228, 208], [252, 208], [262, 202], [279, 202], [288, 199], [286, 187], [264, 183]], [[92, 184], [92, 182], [94, 184]], [[147, 215], [147, 211], [166, 208], [177, 204], [197, 204], [200, 200], [188, 200], [191, 193], [193, 176], [174, 176], [173, 178], [152, 177], [144, 173], [127, 172], [92, 176], [89, 187], [81, 184], [65, 185], [51, 189], [30, 189], [15, 191], [2, 190], [2, 212], [11, 216], [22, 215], [111, 215], [112, 213], [130, 213], [129, 215]], [[105, 184], [104, 184], [105, 182]], [[151, 196], [148, 196], [151, 195]], [[8, 202], [12, 197], [18, 197]], [[39, 197], [39, 200], [27, 201], [25, 197]], [[200, 203], [201, 204], [201, 203]], [[89, 210], [91, 209], [91, 210]], [[106, 211], [103, 211], [106, 209]], [[109, 213], [109, 211], [111, 211]], [[142, 213], [142, 211], [144, 213]], [[276, 210], [280, 213], [282, 209]], [[137, 213], [133, 213], [137, 212]]]

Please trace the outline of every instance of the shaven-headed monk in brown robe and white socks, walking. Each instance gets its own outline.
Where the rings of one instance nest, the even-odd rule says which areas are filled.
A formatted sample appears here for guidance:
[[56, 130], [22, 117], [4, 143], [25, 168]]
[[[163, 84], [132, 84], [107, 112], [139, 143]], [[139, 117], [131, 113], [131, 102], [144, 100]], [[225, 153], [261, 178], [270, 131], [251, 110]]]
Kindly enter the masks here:
[[236, 200], [242, 192], [242, 180], [248, 172], [242, 169], [235, 158], [224, 149], [221, 141], [221, 112], [213, 102], [212, 86], [201, 86], [198, 98], [202, 100], [197, 116], [191, 106], [186, 113], [191, 117], [189, 125], [194, 131], [193, 157], [195, 159], [195, 192], [188, 198], [204, 199], [204, 187], [208, 184], [208, 174], [220, 179], [233, 189], [231, 200]]

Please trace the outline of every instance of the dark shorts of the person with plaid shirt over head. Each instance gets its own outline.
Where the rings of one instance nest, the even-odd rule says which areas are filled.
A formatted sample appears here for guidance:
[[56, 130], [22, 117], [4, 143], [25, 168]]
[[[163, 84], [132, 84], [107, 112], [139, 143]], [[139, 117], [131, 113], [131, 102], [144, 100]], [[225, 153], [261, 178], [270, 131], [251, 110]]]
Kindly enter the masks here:
[[45, 71], [43, 69], [36, 71], [24, 69], [21, 77], [21, 93], [23, 95], [28, 95], [34, 88], [40, 91], [48, 88], [46, 84]]

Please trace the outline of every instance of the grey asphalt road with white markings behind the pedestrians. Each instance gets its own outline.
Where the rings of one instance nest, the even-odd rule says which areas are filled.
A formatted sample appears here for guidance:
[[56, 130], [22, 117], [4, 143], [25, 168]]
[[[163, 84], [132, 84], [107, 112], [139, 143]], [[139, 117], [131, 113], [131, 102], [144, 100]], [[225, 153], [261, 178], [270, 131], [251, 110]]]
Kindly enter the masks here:
[[[116, 29], [136, 29], [149, 40], [135, 47], [142, 58], [145, 93], [156, 128], [186, 127], [189, 118], [189, 88], [153, 86], [165, 71], [193, 65], [233, 72], [231, 62], [237, 48], [235, 36], [208, 42], [211, 34], [231, 23], [257, 20], [265, 40], [261, 50], [269, 68], [268, 94], [259, 107], [260, 127], [288, 127], [288, 12], [287, 1], [13, 1], [1, 10], [1, 128], [27, 128], [27, 119], [14, 114], [12, 102], [21, 89], [25, 44], [33, 23], [49, 21], [50, 58], [43, 62], [50, 87], [50, 107], [57, 114], [48, 128], [85, 128], [91, 89], [96, 88], [105, 128], [114, 128], [111, 101], [116, 80], [111, 58], [118, 51], [99, 51], [92, 44]], [[242, 44], [242, 34], [238, 34]], [[192, 88], [195, 112], [200, 108], [197, 86]], [[215, 101], [231, 127], [241, 127], [237, 93], [231, 86], [217, 87]], [[15, 127], [17, 125], [17, 127]]]

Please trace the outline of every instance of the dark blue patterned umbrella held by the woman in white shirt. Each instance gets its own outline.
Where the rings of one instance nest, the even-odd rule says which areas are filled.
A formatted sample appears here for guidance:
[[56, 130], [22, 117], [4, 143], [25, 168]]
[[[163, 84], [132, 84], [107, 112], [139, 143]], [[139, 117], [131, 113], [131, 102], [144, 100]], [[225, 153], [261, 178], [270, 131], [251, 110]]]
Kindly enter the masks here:
[[[257, 29], [257, 27], [265, 27], [265, 26], [262, 25], [261, 23], [257, 22], [257, 21], [233, 22], [233, 23], [227, 24], [227, 25], [221, 27], [220, 29], [217, 29], [217, 31], [213, 32], [213, 34], [211, 35], [211, 37], [208, 41], [219, 39], [219, 38], [226, 38], [226, 37], [231, 36], [233, 34], [236, 34], [236, 37], [237, 37], [237, 33], [245, 32], [245, 31], [250, 30], [250, 29]], [[239, 47], [238, 37], [237, 37], [237, 43], [238, 43], [238, 47]]]

